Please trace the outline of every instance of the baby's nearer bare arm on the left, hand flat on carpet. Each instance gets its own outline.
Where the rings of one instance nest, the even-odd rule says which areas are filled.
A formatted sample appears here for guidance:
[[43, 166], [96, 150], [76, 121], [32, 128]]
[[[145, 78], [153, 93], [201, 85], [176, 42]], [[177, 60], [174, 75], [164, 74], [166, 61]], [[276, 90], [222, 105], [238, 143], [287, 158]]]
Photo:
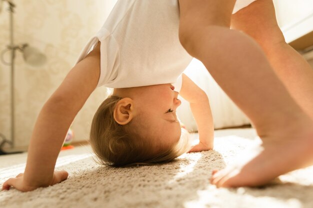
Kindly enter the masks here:
[[12, 186], [27, 192], [67, 179], [67, 173], [54, 172], [54, 166], [71, 122], [96, 87], [99, 45], [70, 70], [42, 107], [32, 132], [25, 172], [7, 180], [3, 190]]

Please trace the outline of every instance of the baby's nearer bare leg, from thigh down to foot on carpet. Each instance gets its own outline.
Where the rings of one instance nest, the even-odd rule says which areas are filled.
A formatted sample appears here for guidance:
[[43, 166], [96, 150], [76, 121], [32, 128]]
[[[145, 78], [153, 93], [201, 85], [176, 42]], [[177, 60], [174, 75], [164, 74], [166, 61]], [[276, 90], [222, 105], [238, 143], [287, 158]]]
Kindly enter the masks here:
[[234, 2], [179, 0], [182, 45], [202, 61], [263, 141], [240, 164], [215, 172], [212, 183], [224, 187], [262, 185], [313, 162], [313, 121], [291, 98], [261, 47], [229, 29]]

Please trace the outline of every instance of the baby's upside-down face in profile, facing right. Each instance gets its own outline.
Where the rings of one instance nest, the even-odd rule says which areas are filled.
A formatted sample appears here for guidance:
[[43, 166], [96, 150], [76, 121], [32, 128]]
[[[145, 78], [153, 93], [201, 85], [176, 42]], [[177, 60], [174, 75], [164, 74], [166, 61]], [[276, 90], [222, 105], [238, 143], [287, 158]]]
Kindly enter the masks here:
[[[181, 104], [177, 99], [178, 92], [171, 84], [160, 84], [142, 87], [140, 99], [134, 100], [140, 111], [140, 120], [144, 122], [153, 135], [157, 144], [170, 145], [178, 142], [181, 134], [180, 124], [176, 116], [176, 109]], [[145, 134], [144, 132], [142, 132]]]

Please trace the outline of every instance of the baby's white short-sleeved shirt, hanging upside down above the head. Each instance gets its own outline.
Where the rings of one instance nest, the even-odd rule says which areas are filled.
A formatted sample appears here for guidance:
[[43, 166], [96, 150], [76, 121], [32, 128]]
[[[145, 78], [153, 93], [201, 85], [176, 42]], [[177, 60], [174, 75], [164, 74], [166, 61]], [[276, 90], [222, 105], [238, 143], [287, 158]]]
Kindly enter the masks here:
[[100, 41], [97, 86], [174, 83], [192, 59], [179, 42], [178, 25], [177, 0], [118, 0], [78, 61]]

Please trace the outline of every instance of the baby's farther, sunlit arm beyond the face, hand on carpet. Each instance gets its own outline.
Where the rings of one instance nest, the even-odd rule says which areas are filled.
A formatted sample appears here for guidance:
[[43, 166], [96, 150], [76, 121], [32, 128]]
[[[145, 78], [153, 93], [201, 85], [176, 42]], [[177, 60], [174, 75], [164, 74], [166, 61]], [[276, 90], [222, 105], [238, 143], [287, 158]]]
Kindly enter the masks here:
[[207, 95], [185, 74], [182, 74], [179, 94], [190, 103], [191, 112], [198, 127], [199, 144], [193, 146], [190, 152], [213, 149], [214, 126]]

